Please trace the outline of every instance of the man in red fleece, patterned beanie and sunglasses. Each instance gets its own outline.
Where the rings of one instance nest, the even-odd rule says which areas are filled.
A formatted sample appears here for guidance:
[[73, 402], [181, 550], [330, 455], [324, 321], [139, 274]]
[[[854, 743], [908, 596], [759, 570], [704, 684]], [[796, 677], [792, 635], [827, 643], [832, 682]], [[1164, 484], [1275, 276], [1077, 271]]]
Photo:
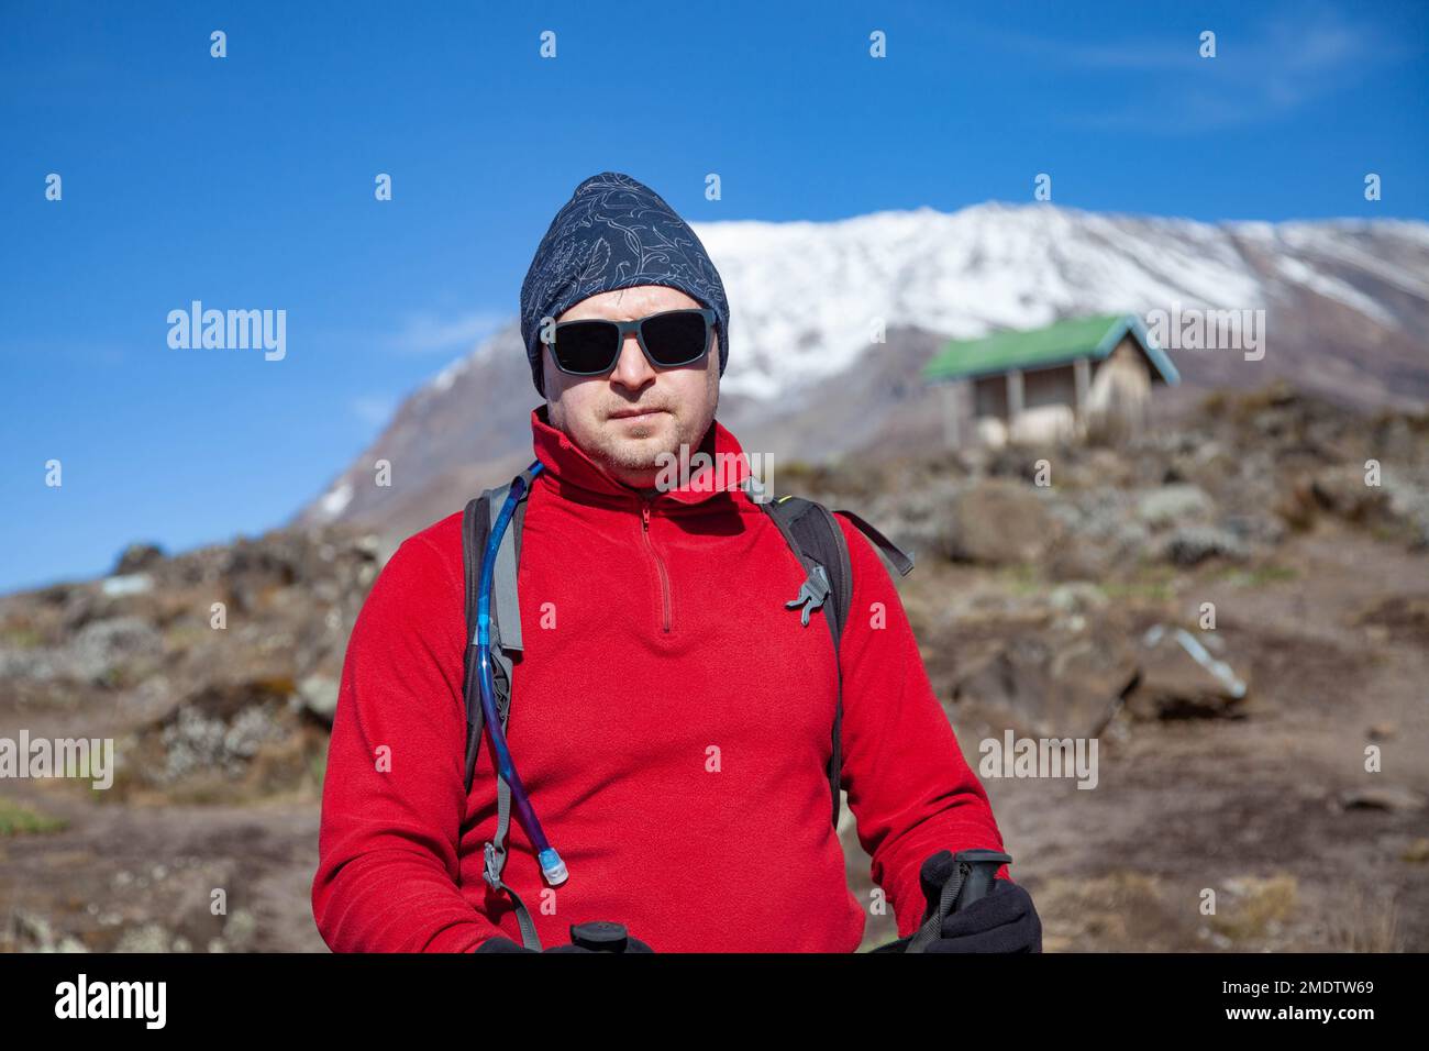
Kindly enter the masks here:
[[[634, 330], [570, 326], [673, 310], [704, 313], [652, 322], [644, 347]], [[1002, 837], [893, 582], [847, 519], [839, 652], [787, 608], [805, 571], [714, 420], [729, 306], [699, 239], [634, 179], [584, 180], [532, 262], [522, 332], [546, 405], [532, 412], [543, 469], [522, 535], [507, 742], [570, 875], [549, 887], [513, 822], [503, 881], [540, 944], [569, 949], [570, 925], [610, 921], [656, 952], [856, 949], [865, 911], [825, 772], [842, 675], [843, 785], [903, 948], [946, 851]], [[664, 365], [672, 353], [694, 359]], [[737, 469], [662, 485], [682, 446]], [[336, 951], [522, 951], [512, 905], [482, 878], [490, 746], [463, 784], [462, 559], [457, 512], [397, 549], [353, 629], [313, 882]], [[1030, 898], [997, 875], [929, 949], [1040, 951]]]

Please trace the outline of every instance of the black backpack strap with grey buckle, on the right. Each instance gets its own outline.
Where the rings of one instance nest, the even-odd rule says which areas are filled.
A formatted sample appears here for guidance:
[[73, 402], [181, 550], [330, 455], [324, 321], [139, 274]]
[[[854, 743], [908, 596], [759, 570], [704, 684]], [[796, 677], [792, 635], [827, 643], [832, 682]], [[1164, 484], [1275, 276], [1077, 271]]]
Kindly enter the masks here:
[[[833, 827], [837, 829], [839, 791], [843, 781], [843, 668], [837, 665], [837, 653], [843, 628], [849, 622], [849, 605], [853, 602], [853, 569], [849, 563], [847, 541], [833, 515], [847, 516], [893, 562], [900, 576], [907, 576], [912, 572], [913, 558], [853, 512], [830, 512], [822, 503], [802, 496], [780, 496], [776, 500], [757, 503], [779, 526], [789, 549], [805, 568], [806, 576], [803, 586], [799, 588], [799, 595], [786, 602], [785, 606], [789, 609], [802, 606], [800, 623], [803, 626], [809, 625], [809, 615], [815, 609], [823, 609], [825, 623], [829, 625], [829, 635], [833, 638], [835, 666], [839, 668], [839, 695], [833, 714], [833, 749], [829, 756], [827, 774], [829, 795], [833, 798]], [[832, 611], [827, 605], [830, 596], [833, 598]]]

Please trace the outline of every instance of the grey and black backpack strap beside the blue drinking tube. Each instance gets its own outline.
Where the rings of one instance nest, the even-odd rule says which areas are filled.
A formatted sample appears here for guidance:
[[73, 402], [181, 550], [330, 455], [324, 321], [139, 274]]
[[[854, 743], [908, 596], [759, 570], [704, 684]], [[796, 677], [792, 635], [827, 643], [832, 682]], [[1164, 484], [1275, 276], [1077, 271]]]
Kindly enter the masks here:
[[[524, 473], [524, 472], [523, 472]], [[526, 478], [524, 493], [530, 493], [530, 478]], [[476, 774], [476, 758], [482, 748], [482, 732], [486, 716], [482, 711], [480, 684], [477, 675], [480, 669], [476, 659], [476, 611], [477, 589], [482, 579], [482, 559], [486, 556], [486, 543], [490, 536], [492, 523], [500, 515], [506, 503], [510, 485], [497, 489], [486, 489], [480, 496], [466, 505], [462, 515], [462, 556], [466, 576], [466, 625], [467, 646], [466, 663], [463, 669], [463, 695], [466, 702], [466, 762], [464, 785], [467, 795], [472, 792], [472, 779]], [[516, 592], [517, 566], [520, 563], [520, 533], [526, 516], [526, 499], [516, 505], [512, 526], [502, 538], [502, 545], [496, 553], [496, 565], [492, 571], [492, 603], [490, 638], [492, 638], [492, 685], [496, 694], [496, 711], [502, 718], [502, 729], [506, 729], [512, 711], [512, 682], [513, 666], [512, 653], [522, 649], [522, 619], [520, 602]], [[502, 879], [506, 868], [506, 834], [510, 829], [512, 818], [512, 789], [506, 779], [496, 775], [496, 837], [484, 844], [482, 851], [482, 878], [493, 891], [502, 891], [512, 899], [516, 912], [516, 922], [522, 928], [522, 942], [526, 948], [540, 949], [540, 938], [536, 935], [536, 924], [532, 921], [530, 909], [520, 899], [520, 895]]]

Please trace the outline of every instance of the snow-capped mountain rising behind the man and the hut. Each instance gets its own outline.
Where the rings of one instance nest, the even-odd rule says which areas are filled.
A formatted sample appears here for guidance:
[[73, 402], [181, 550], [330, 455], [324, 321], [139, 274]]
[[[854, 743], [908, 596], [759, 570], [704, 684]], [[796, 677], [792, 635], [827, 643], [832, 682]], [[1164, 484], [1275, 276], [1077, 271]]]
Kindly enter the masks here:
[[[1426, 223], [1199, 223], [987, 203], [694, 229], [730, 302], [719, 418], [747, 448], [786, 459], [936, 440], [919, 369], [942, 340], [1086, 313], [1265, 310], [1260, 360], [1172, 353], [1190, 392], [1289, 376], [1356, 405], [1429, 400]], [[404, 535], [459, 509], [530, 462], [537, 400], [513, 316], [409, 398], [299, 520]], [[392, 463], [390, 488], [373, 485], [377, 459]]]

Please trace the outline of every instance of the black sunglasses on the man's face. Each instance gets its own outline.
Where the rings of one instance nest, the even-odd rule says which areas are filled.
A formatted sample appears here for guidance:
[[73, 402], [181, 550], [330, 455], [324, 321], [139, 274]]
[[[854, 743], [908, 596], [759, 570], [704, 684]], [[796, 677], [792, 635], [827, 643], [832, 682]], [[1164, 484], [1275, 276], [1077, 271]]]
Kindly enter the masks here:
[[716, 315], [709, 307], [663, 310], [633, 322], [589, 317], [562, 322], [549, 343], [556, 367], [569, 376], [604, 376], [620, 360], [626, 333], [633, 332], [640, 352], [657, 369], [693, 365], [710, 349]]

